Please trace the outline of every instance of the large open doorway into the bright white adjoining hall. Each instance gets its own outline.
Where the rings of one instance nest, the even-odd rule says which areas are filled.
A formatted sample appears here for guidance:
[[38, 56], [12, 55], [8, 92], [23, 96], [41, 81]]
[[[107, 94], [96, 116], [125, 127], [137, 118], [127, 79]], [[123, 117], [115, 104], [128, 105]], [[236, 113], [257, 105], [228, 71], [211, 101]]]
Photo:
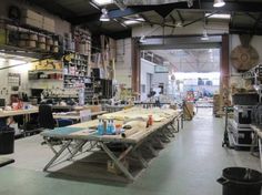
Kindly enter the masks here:
[[[152, 89], [177, 103], [194, 103], [195, 113], [212, 113], [213, 95], [220, 91], [220, 48], [142, 50], [141, 85], [147, 93]], [[141, 94], [144, 101], [147, 95]]]

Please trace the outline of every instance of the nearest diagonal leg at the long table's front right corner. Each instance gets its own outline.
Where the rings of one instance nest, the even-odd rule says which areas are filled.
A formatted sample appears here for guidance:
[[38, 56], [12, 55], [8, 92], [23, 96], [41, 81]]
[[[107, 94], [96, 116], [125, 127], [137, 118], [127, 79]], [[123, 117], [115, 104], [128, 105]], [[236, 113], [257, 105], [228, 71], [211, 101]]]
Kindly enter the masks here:
[[[101, 142], [100, 143], [104, 152], [109, 155], [109, 157], [115, 163], [115, 165], [119, 167], [119, 170], [122, 171], [122, 173], [131, 181], [134, 181], [133, 175], [128, 171], [128, 168], [121, 163], [121, 161], [108, 148], [108, 146]], [[132, 147], [132, 146], [130, 146]], [[130, 148], [127, 148], [130, 150]], [[127, 151], [125, 150], [125, 151]], [[127, 154], [125, 154], [127, 155]], [[121, 155], [120, 155], [121, 156]]]

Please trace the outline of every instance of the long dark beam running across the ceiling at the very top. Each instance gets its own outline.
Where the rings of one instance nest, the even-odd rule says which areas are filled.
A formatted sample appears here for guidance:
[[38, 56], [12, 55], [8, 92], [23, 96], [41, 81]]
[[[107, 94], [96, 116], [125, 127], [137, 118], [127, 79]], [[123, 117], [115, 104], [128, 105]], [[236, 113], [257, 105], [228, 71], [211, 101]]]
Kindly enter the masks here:
[[[202, 11], [221, 11], [221, 12], [262, 12], [261, 2], [226, 2], [222, 8], [214, 8], [213, 1], [202, 0], [201, 3], [194, 3], [193, 7], [188, 8], [187, 2], [177, 2], [161, 6], [132, 6], [121, 11], [119, 9], [109, 10], [109, 17], [111, 19], [128, 17], [131, 14], [137, 14], [145, 11], [155, 11], [155, 10], [202, 10]], [[92, 21], [98, 21], [101, 13], [87, 14], [81, 17], [68, 18], [73, 24], [84, 24]]]

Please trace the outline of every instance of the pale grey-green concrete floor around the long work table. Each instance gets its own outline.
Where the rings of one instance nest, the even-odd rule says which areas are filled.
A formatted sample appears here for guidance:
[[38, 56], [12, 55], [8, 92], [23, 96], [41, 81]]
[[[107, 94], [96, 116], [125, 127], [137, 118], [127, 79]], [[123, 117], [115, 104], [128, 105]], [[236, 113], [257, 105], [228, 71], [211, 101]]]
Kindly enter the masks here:
[[221, 147], [223, 120], [211, 110], [199, 111], [177, 137], [151, 161], [132, 184], [87, 182], [77, 177], [51, 177], [41, 168], [52, 156], [41, 138], [16, 142], [16, 163], [0, 168], [1, 195], [221, 195], [215, 182], [228, 166], [260, 171], [259, 158], [249, 152]]

